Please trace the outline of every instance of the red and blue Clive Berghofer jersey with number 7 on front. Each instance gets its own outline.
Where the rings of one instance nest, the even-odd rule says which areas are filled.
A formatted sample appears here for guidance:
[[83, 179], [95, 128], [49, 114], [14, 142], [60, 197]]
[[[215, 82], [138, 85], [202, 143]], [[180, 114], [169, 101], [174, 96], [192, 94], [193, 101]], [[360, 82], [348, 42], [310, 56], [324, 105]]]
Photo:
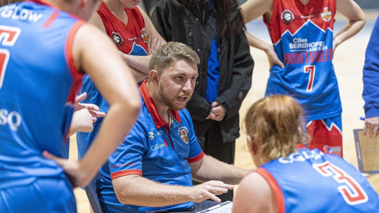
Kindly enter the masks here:
[[285, 68], [274, 65], [266, 95], [286, 94], [304, 108], [305, 119], [342, 113], [332, 65], [335, 0], [273, 0], [273, 13], [263, 17], [274, 49]]

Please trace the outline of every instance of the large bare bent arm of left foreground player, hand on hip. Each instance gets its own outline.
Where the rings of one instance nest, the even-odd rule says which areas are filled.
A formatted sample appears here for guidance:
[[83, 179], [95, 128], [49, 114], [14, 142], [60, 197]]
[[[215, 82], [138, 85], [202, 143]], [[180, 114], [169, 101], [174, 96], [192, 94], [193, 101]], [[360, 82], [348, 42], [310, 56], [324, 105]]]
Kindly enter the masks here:
[[80, 27], [72, 48], [77, 67], [91, 76], [110, 105], [96, 139], [82, 160], [76, 163], [44, 152], [44, 157], [62, 166], [75, 187], [86, 185], [121, 143], [135, 122], [140, 103], [131, 70], [99, 29], [89, 24]]

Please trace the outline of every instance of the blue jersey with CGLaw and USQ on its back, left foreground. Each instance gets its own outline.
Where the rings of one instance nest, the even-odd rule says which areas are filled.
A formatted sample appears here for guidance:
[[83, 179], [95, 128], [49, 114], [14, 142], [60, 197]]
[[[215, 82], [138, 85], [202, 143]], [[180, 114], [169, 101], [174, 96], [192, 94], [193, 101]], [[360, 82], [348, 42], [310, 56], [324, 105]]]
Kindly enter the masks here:
[[0, 8], [0, 189], [66, 179], [42, 151], [68, 157], [82, 79], [72, 43], [83, 23], [37, 0]]

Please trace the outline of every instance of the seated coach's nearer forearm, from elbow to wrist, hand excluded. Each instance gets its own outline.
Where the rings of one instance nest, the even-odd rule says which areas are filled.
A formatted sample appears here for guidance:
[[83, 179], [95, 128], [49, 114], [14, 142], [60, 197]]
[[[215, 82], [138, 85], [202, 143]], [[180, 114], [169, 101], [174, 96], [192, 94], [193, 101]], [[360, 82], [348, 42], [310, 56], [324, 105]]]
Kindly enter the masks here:
[[139, 175], [118, 177], [112, 182], [122, 204], [161, 207], [191, 201], [190, 187], [162, 185]]

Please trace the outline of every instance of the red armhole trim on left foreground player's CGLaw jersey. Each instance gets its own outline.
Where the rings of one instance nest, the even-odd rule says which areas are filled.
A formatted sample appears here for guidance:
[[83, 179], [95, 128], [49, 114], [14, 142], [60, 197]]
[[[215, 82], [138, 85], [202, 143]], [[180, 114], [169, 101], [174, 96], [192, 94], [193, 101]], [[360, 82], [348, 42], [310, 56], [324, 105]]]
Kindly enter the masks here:
[[72, 82], [72, 85], [70, 88], [70, 92], [67, 96], [67, 102], [71, 102], [71, 103], [75, 102], [75, 97], [80, 89], [81, 80], [83, 77], [83, 74], [79, 72], [78, 67], [75, 64], [74, 56], [72, 54], [72, 44], [74, 43], [75, 34], [77, 33], [78, 29], [85, 23], [86, 22], [84, 20], [78, 20], [77, 22], [75, 22], [74, 25], [72, 25], [70, 32], [67, 35], [67, 40], [66, 40], [66, 50], [65, 50], [66, 62], [70, 69], [72, 78], [74, 78], [74, 81]]

